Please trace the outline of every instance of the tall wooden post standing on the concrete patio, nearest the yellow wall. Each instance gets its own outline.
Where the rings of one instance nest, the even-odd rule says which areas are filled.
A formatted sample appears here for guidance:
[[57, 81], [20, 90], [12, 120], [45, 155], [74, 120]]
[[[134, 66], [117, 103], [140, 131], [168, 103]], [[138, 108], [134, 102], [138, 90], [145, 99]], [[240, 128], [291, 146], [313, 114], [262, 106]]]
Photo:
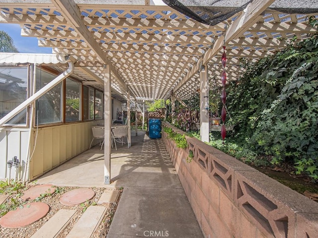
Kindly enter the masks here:
[[104, 183], [110, 184], [111, 156], [111, 88], [110, 65], [104, 65]]

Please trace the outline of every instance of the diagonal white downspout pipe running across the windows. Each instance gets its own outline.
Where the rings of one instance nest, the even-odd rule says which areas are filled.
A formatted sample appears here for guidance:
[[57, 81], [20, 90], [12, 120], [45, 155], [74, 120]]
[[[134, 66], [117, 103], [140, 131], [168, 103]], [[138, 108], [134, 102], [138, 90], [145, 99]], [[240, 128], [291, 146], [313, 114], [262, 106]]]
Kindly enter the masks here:
[[13, 109], [10, 113], [8, 113], [6, 116], [4, 116], [2, 119], [0, 119], [0, 126], [2, 126], [6, 121], [12, 119], [15, 115], [20, 113], [24, 108], [28, 107], [31, 103], [33, 103], [35, 100], [43, 96], [45, 93], [47, 93], [50, 89], [55, 87], [57, 84], [62, 82], [65, 78], [71, 75], [71, 73], [74, 71], [74, 63], [68, 62], [69, 68], [65, 70], [63, 73], [61, 73], [59, 76], [57, 76], [55, 79], [53, 79], [50, 83], [48, 83], [46, 86], [44, 86], [42, 89], [37, 91], [35, 94], [33, 94], [31, 97], [29, 97], [27, 100], [25, 100], [23, 103], [21, 103], [19, 106], [17, 106], [15, 109]]

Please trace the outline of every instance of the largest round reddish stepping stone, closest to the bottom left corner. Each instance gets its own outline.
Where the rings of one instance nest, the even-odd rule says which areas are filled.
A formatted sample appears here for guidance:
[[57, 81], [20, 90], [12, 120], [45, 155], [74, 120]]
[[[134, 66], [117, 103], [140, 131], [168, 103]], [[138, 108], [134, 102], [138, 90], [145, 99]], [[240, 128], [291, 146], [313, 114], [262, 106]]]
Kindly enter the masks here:
[[49, 212], [49, 205], [44, 202], [32, 202], [25, 204], [23, 208], [17, 208], [9, 211], [0, 218], [0, 226], [6, 228], [26, 227], [41, 218]]

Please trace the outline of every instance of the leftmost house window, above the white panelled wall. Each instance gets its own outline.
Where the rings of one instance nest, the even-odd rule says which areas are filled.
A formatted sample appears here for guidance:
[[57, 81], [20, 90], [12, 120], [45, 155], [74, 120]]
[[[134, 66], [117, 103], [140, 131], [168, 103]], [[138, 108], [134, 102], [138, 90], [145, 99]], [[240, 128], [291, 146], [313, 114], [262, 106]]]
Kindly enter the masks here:
[[[0, 68], [0, 119], [26, 100], [27, 67]], [[26, 125], [26, 110], [8, 124]]]

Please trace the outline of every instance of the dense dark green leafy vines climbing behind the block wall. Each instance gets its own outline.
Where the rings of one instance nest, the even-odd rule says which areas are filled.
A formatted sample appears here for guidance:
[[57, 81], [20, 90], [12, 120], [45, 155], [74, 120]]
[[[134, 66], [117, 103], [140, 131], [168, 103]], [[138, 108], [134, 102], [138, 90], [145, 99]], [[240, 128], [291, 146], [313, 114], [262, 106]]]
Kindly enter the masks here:
[[245, 67], [227, 88], [234, 136], [318, 179], [318, 35]]

